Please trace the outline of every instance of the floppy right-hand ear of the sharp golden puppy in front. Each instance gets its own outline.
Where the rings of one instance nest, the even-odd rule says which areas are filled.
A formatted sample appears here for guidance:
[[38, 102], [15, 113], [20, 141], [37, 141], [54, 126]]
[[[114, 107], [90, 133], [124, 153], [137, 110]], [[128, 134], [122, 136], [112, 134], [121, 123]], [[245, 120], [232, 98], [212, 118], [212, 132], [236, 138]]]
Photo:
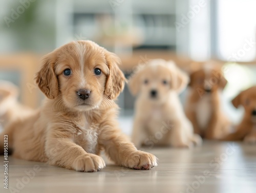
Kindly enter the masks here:
[[114, 53], [104, 50], [105, 58], [108, 62], [109, 75], [105, 84], [105, 95], [110, 99], [118, 97], [124, 88], [125, 77], [118, 65], [121, 64], [121, 59]]

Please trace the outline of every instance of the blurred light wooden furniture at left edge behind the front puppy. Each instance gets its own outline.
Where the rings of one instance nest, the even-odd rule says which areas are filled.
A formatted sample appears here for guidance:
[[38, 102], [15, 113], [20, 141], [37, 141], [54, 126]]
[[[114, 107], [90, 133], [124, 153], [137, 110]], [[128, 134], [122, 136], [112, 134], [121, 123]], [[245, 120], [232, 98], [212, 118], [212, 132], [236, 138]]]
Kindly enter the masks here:
[[0, 71], [20, 73], [20, 99], [23, 104], [36, 108], [40, 101], [39, 89], [34, 83], [34, 74], [38, 70], [38, 56], [30, 53], [0, 55]]

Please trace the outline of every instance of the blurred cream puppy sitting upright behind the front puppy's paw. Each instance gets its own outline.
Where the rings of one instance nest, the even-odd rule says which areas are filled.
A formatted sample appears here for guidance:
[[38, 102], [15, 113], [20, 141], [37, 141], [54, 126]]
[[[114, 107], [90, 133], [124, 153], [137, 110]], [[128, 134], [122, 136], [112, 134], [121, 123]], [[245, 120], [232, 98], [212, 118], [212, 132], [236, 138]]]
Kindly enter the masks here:
[[201, 144], [178, 96], [187, 82], [188, 77], [173, 61], [163, 59], [151, 60], [131, 76], [130, 90], [138, 95], [132, 135], [136, 146]]

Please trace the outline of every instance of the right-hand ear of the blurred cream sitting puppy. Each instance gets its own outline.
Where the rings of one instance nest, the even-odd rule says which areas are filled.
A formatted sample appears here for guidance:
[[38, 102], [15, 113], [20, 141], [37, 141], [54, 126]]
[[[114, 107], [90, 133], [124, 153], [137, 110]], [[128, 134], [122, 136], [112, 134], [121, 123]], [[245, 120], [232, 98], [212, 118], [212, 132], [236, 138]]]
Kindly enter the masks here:
[[168, 66], [172, 76], [172, 89], [180, 93], [186, 88], [189, 81], [189, 77], [185, 72], [181, 71], [173, 61], [168, 61]]

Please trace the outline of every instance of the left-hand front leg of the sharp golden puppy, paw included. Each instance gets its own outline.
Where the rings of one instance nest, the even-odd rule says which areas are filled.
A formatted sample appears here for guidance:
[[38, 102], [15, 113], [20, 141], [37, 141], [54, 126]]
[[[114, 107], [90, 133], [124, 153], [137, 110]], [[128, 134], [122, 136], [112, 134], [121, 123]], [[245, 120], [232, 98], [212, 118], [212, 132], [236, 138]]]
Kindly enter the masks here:
[[[57, 136], [61, 136], [57, 137]], [[46, 155], [49, 164], [74, 169], [76, 171], [98, 171], [105, 166], [104, 160], [89, 154], [63, 134], [52, 134], [46, 141]]]

